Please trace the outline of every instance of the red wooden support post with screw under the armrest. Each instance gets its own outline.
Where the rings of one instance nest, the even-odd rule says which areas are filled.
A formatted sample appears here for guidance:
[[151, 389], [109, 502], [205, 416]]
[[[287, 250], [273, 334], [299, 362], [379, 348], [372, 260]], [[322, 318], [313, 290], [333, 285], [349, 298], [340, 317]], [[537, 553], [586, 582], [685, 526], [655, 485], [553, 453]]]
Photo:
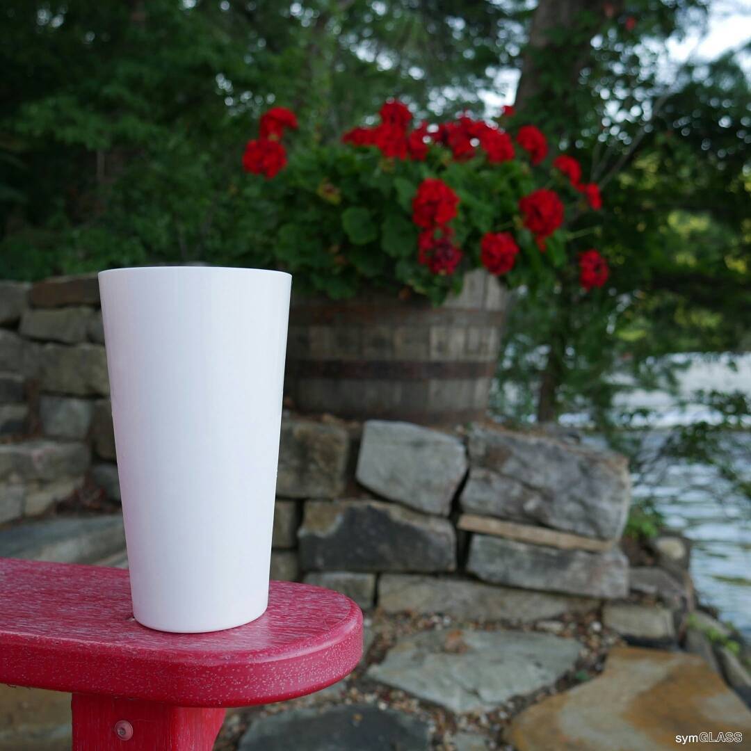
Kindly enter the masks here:
[[223, 709], [74, 694], [73, 751], [211, 751]]

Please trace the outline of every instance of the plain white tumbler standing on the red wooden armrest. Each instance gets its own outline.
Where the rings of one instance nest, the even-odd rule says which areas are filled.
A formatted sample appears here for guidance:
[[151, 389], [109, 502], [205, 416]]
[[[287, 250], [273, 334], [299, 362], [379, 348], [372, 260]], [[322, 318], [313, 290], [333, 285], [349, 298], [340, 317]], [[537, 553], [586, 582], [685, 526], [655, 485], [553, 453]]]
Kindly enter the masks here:
[[135, 619], [219, 631], [267, 607], [291, 276], [99, 274]]

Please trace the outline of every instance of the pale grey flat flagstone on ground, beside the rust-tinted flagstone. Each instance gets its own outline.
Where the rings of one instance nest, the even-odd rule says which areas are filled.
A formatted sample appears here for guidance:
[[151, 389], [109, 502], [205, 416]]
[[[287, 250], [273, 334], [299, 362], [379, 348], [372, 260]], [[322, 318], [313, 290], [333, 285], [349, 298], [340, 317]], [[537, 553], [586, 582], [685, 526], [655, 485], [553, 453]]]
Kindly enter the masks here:
[[397, 641], [366, 675], [452, 712], [483, 711], [552, 685], [580, 650], [535, 632], [428, 631]]

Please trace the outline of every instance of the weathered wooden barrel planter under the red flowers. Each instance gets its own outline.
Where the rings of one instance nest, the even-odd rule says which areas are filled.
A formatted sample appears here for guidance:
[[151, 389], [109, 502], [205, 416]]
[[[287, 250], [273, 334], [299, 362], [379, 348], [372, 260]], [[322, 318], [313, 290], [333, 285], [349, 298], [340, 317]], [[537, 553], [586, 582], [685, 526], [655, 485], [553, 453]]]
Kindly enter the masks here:
[[300, 412], [456, 424], [482, 418], [508, 292], [484, 270], [442, 306], [368, 294], [295, 298], [285, 393]]

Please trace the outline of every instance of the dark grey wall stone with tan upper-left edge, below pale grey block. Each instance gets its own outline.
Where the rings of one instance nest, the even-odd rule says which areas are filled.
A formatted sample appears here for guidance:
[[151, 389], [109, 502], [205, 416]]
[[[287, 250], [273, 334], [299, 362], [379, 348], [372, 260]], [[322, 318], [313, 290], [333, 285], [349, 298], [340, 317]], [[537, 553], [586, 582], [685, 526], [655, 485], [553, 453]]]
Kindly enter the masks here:
[[446, 519], [393, 503], [309, 501], [297, 532], [308, 571], [448, 572], [456, 533]]

